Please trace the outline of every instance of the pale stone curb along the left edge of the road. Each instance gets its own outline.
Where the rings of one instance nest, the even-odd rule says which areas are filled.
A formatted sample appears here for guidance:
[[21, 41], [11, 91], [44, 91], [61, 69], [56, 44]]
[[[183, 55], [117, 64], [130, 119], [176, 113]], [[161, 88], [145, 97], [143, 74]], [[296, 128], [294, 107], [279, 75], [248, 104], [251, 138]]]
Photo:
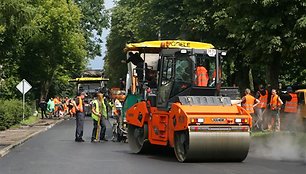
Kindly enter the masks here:
[[40, 134], [42, 132], [47, 131], [48, 129], [52, 128], [53, 126], [55, 126], [58, 123], [61, 123], [62, 121], [64, 121], [64, 120], [58, 120], [55, 123], [50, 124], [49, 126], [46, 126], [44, 129], [38, 130], [37, 132], [34, 132], [34, 133], [28, 135], [27, 137], [25, 137], [25, 138], [23, 138], [23, 139], [21, 139], [19, 141], [16, 141], [15, 143], [13, 143], [13, 144], [3, 148], [2, 150], [0, 150], [0, 158], [4, 157], [6, 154], [8, 154], [13, 148], [23, 144], [24, 142], [26, 142], [30, 138], [34, 137], [35, 135], [38, 135], [38, 134]]

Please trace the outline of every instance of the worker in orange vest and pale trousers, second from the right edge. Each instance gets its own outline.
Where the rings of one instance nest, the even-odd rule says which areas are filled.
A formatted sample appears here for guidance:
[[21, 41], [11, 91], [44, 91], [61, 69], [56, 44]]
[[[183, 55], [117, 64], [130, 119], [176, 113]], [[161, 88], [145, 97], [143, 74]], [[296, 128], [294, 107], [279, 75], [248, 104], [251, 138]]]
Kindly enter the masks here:
[[275, 89], [272, 89], [271, 93], [272, 93], [271, 99], [270, 99], [271, 120], [269, 121], [268, 129], [278, 132], [280, 131], [279, 112], [281, 110], [281, 106], [283, 105], [283, 101], [277, 95]]

